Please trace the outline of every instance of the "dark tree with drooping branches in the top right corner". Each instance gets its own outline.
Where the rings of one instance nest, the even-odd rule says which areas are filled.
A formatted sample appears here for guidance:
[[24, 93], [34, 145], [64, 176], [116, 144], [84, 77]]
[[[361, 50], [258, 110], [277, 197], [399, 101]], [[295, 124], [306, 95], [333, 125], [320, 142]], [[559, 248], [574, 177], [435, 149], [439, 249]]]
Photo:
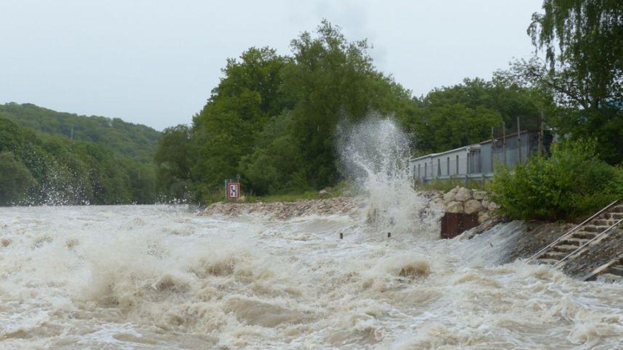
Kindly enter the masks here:
[[551, 91], [562, 107], [552, 125], [574, 139], [593, 138], [609, 163], [623, 161], [623, 2], [545, 0], [528, 28], [546, 62], [516, 71]]

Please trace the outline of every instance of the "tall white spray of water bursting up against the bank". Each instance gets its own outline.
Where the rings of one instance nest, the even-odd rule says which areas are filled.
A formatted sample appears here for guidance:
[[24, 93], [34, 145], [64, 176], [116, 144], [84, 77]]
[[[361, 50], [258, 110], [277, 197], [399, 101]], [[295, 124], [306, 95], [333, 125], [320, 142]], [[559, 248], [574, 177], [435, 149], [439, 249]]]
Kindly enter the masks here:
[[396, 233], [439, 234], [439, 210], [430, 210], [412, 187], [409, 142], [394, 121], [372, 114], [338, 129], [345, 174], [369, 195], [367, 221]]

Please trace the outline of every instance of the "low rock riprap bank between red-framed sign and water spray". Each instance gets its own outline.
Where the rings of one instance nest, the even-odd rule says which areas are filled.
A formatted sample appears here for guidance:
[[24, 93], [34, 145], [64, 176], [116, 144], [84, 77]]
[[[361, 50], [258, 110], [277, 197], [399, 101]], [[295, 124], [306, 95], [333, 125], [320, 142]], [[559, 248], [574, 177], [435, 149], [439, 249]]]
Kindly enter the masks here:
[[305, 215], [358, 215], [366, 202], [360, 197], [337, 197], [294, 202], [224, 203], [209, 205], [204, 215], [262, 214], [270, 219], [285, 220]]

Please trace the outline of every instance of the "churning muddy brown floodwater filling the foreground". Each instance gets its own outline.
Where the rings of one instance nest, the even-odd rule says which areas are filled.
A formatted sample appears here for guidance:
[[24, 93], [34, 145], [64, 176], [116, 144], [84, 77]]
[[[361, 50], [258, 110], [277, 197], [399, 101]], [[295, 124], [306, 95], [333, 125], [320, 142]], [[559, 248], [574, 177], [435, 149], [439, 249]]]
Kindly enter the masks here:
[[0, 348], [623, 347], [623, 285], [421, 224], [0, 208]]

